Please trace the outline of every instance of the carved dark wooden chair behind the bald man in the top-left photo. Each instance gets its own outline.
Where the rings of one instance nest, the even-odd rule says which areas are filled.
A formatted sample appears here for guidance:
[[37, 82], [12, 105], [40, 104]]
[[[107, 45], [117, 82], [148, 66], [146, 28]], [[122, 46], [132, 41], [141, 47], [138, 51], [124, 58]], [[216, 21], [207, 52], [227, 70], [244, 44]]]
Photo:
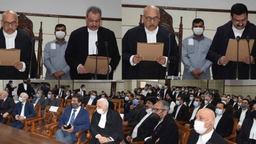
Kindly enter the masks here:
[[[37, 67], [34, 67], [32, 69], [32, 74], [36, 73], [35, 75], [32, 75], [32, 78], [40, 78], [40, 75], [43, 75], [43, 56], [42, 56], [42, 43], [43, 43], [43, 29], [42, 29], [42, 22], [40, 23], [39, 28], [39, 35], [36, 37], [33, 33], [33, 22], [28, 17], [26, 17], [22, 13], [18, 13], [18, 29], [21, 31], [25, 31], [32, 37], [32, 45], [33, 50], [35, 50], [35, 41], [38, 41], [38, 48], [37, 48]], [[36, 71], [35, 71], [36, 70]]]

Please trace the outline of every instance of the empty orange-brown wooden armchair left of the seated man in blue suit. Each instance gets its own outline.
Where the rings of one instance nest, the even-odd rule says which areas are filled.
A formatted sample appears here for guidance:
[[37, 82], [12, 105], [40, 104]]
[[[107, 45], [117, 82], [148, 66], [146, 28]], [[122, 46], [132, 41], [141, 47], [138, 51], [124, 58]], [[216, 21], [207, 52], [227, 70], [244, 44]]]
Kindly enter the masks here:
[[[56, 130], [58, 130], [58, 121], [64, 112], [63, 107], [58, 107], [57, 112], [49, 111], [50, 105], [45, 107], [45, 115], [42, 118], [31, 120], [32, 134], [41, 135], [43, 137], [54, 138]], [[41, 120], [45, 122], [45, 126], [41, 125]]]

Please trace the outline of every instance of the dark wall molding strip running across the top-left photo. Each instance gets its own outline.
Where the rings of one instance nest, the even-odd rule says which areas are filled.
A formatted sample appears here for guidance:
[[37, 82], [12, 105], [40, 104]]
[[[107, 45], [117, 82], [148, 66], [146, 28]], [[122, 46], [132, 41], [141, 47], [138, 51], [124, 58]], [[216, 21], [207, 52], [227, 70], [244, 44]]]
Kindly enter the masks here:
[[[3, 14], [4, 11], [0, 11], [0, 14]], [[58, 15], [58, 14], [35, 14], [35, 13], [27, 13], [27, 12], [17, 12], [18, 15], [20, 13], [25, 14], [25, 16], [43, 16], [43, 17], [52, 17], [52, 18], [75, 18], [75, 19], [85, 19], [85, 16], [68, 16], [68, 15]], [[110, 20], [110, 21], [120, 21], [121, 18], [101, 18], [101, 20]]]

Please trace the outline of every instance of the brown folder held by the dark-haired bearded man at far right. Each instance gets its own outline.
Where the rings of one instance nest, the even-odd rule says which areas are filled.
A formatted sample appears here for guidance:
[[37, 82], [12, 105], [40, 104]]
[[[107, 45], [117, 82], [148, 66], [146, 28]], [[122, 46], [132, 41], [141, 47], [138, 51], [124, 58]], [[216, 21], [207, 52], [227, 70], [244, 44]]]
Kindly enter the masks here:
[[[249, 41], [249, 49], [251, 54], [251, 49], [253, 48], [254, 39]], [[238, 51], [238, 62], [242, 62], [242, 58], [249, 56], [248, 44], [245, 39], [240, 39], [239, 45], [236, 39], [229, 39], [228, 47], [226, 48], [226, 58], [231, 61], [236, 62]]]

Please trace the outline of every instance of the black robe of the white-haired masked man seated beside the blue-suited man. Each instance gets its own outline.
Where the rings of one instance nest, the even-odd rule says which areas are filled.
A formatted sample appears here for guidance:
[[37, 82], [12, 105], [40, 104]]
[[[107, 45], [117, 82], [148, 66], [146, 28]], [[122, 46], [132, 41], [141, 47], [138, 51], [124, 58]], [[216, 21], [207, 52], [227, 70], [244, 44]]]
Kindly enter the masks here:
[[98, 123], [100, 122], [101, 115], [97, 112], [93, 113], [93, 118], [91, 120], [90, 131], [93, 135], [91, 138], [90, 144], [99, 144], [98, 139], [95, 138], [97, 134], [102, 135], [103, 137], [112, 137], [114, 141], [110, 144], [120, 143], [123, 140], [123, 123], [119, 113], [108, 109], [106, 114], [106, 125], [105, 128], [100, 128]]

